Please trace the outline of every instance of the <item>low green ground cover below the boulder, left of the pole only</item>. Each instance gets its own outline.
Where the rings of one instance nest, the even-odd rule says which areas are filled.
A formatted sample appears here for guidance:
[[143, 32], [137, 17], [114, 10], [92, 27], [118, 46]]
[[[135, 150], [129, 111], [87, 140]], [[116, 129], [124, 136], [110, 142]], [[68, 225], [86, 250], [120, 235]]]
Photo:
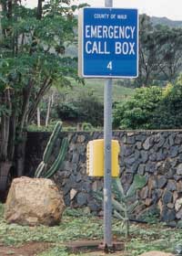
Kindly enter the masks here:
[[[72, 212], [72, 211], [71, 211]], [[81, 215], [81, 211], [80, 211]], [[99, 239], [102, 236], [102, 223], [94, 217], [81, 215], [73, 218], [66, 210], [60, 226], [47, 228], [45, 226], [28, 227], [17, 224], [7, 225], [0, 219], [0, 242], [5, 245], [17, 245], [27, 241], [64, 242], [69, 240], [86, 239], [89, 237]], [[84, 224], [83, 224], [84, 223]]]

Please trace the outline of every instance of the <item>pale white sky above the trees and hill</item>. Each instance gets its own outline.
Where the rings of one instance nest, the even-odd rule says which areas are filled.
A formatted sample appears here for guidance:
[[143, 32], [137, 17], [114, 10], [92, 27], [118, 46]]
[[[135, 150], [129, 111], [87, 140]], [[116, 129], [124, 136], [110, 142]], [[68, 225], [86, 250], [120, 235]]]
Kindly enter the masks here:
[[[37, 0], [24, 0], [24, 2], [30, 7], [35, 7]], [[75, 0], [74, 2], [87, 3], [94, 7], [105, 6], [105, 0]], [[140, 14], [182, 20], [182, 0], [113, 0], [113, 7], [138, 8]]]

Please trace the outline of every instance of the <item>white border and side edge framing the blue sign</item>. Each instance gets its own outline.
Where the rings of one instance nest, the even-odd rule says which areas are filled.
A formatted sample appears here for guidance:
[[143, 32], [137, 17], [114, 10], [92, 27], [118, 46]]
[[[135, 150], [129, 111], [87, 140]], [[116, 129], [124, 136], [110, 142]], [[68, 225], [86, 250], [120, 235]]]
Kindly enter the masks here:
[[[112, 75], [85, 75], [84, 74], [84, 9], [123, 9], [137, 11], [137, 52], [136, 52], [136, 76], [112, 76]], [[109, 8], [109, 7], [84, 7], [78, 14], [78, 75], [83, 78], [100, 78], [100, 79], [135, 79], [138, 77], [138, 62], [139, 62], [139, 14], [136, 8]]]

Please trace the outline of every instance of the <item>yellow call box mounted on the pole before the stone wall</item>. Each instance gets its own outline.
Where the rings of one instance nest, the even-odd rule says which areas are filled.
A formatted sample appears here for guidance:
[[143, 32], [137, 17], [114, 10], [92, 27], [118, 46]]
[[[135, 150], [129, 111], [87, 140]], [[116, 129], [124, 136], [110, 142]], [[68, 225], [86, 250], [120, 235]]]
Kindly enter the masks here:
[[[112, 140], [111, 176], [119, 176], [119, 143]], [[104, 140], [90, 141], [86, 146], [86, 173], [88, 176], [104, 176]]]

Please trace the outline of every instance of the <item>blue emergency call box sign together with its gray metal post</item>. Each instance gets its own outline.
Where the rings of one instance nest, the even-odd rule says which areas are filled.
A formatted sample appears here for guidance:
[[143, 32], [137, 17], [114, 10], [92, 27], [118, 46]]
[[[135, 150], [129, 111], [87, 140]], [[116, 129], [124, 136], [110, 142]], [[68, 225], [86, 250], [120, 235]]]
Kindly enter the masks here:
[[113, 247], [111, 219], [112, 78], [138, 74], [138, 12], [113, 8], [84, 8], [79, 16], [79, 75], [106, 78], [104, 113], [104, 246]]

